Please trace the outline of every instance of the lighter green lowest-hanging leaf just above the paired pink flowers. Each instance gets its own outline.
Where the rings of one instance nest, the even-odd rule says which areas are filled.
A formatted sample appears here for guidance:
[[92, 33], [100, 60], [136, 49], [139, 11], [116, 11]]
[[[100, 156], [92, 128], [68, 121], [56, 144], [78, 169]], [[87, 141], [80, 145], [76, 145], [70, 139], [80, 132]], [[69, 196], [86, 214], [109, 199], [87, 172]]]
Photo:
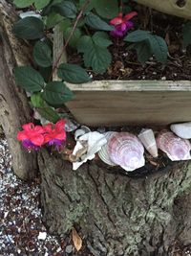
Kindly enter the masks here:
[[36, 108], [39, 114], [44, 117], [46, 120], [50, 122], [56, 123], [59, 120], [59, 115], [53, 107], [46, 104], [46, 102], [42, 99], [40, 93], [32, 94], [31, 96], [32, 106]]

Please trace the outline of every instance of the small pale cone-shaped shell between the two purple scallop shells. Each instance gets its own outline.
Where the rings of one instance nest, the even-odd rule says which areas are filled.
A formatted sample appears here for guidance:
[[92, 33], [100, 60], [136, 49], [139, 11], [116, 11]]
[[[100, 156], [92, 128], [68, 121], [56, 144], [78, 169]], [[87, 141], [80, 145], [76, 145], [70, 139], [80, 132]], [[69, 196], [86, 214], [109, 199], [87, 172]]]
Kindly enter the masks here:
[[138, 134], [138, 139], [144, 145], [145, 149], [154, 157], [158, 157], [158, 147], [153, 129], [143, 128]]

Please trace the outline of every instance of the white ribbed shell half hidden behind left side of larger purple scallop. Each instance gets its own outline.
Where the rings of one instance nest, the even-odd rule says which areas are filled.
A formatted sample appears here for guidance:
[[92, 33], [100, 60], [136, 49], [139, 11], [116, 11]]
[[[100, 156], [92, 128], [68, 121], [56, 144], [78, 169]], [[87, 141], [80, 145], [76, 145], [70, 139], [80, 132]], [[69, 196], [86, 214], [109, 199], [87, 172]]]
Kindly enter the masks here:
[[[115, 131], [108, 131], [105, 132], [105, 138], [107, 139], [107, 141], [110, 139], [111, 136], [113, 136], [113, 134], [115, 134], [117, 132]], [[106, 143], [105, 145], [103, 145], [101, 147], [101, 150], [98, 151], [98, 156], [99, 158], [106, 164], [111, 165], [111, 166], [116, 166], [116, 164], [110, 159], [109, 156], [109, 152], [108, 152], [108, 143]]]

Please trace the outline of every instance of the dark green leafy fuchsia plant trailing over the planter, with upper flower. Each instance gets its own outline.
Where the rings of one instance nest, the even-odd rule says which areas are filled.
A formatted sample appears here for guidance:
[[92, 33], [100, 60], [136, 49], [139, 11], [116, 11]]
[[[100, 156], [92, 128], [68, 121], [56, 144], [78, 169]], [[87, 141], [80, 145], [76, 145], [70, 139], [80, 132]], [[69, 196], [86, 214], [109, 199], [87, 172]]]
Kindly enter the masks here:
[[[52, 122], [58, 119], [57, 106], [74, 98], [67, 82], [90, 81], [84, 67], [105, 73], [112, 63], [110, 49], [117, 47], [118, 39], [133, 44], [140, 62], [153, 55], [159, 62], [166, 62], [167, 46], [161, 37], [141, 30], [129, 32], [138, 13], [130, 12], [127, 0], [14, 0], [13, 3], [18, 9], [29, 7], [38, 16], [40, 13], [40, 17], [27, 16], [13, 26], [14, 35], [31, 40], [33, 46], [32, 66], [17, 67], [14, 75], [16, 83], [31, 93], [32, 107]], [[55, 28], [64, 40], [56, 54]], [[188, 38], [185, 40], [188, 43]], [[82, 66], [62, 60], [68, 47], [82, 57]]]

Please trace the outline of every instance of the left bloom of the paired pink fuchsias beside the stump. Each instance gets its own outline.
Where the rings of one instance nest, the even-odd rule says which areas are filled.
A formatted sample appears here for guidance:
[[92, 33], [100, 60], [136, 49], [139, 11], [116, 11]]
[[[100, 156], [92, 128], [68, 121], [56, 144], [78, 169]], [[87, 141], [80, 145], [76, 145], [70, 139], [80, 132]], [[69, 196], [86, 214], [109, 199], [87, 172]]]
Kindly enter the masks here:
[[44, 144], [44, 129], [41, 126], [34, 126], [32, 123], [22, 126], [23, 130], [17, 133], [17, 139], [22, 141], [27, 150], [37, 150]]

